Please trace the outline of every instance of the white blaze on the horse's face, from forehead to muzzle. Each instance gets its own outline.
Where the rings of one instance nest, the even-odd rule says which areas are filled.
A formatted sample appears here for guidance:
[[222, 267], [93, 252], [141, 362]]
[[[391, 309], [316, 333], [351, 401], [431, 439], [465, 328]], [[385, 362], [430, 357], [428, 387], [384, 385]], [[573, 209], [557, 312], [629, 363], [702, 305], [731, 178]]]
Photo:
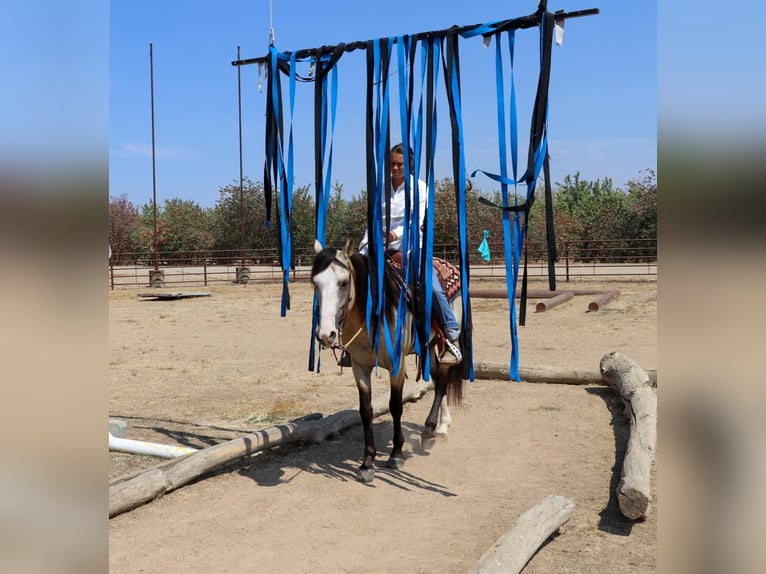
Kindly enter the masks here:
[[348, 269], [335, 263], [314, 275], [314, 289], [319, 300], [316, 337], [325, 347], [336, 347], [341, 343], [350, 280], [351, 274]]

